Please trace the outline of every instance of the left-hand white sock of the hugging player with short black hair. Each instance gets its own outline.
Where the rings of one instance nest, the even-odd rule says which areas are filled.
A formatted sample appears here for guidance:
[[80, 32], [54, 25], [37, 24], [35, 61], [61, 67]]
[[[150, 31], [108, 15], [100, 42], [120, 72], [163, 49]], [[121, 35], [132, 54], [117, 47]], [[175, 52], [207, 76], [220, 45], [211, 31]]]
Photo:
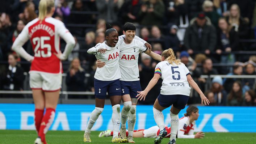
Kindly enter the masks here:
[[121, 127], [122, 128], [126, 128], [126, 121], [127, 121], [130, 109], [131, 109], [131, 101], [124, 102], [123, 109], [121, 112]]

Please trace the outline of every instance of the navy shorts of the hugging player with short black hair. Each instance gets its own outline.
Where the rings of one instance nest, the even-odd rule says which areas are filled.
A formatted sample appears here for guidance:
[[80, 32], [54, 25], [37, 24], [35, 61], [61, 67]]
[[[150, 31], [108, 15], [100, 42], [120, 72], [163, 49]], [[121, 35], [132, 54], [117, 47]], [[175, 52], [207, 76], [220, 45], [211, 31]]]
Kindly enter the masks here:
[[137, 91], [141, 91], [139, 81], [120, 81], [122, 88], [122, 96], [125, 94], [130, 94], [131, 98], [136, 98]]

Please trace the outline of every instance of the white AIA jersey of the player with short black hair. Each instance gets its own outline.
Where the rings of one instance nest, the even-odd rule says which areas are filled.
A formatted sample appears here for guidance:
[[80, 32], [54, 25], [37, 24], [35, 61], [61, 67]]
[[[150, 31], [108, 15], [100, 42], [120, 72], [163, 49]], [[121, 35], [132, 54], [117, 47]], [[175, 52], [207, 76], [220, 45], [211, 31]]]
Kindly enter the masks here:
[[122, 42], [120, 45], [119, 65], [121, 71], [122, 81], [138, 81], [139, 67], [138, 58], [139, 53], [147, 50], [143, 42], [133, 39], [130, 44]]

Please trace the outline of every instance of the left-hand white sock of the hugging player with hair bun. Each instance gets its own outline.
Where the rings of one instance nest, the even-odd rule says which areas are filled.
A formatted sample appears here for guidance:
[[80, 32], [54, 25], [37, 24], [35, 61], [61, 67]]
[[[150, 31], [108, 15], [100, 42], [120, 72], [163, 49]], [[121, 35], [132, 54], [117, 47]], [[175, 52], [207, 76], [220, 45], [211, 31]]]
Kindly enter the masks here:
[[103, 108], [101, 107], [95, 107], [95, 109], [92, 111], [90, 119], [88, 120], [87, 128], [85, 132], [91, 132], [92, 126], [98, 119], [98, 116], [102, 113]]

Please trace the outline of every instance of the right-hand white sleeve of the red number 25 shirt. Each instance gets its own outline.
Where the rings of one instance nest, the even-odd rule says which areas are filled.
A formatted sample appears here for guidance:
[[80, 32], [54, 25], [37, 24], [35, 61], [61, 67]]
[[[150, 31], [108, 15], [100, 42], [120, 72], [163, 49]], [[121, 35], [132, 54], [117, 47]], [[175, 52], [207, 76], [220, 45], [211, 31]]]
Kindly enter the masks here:
[[61, 38], [63, 38], [64, 41], [66, 42], [65, 50], [64, 50], [63, 54], [60, 56], [61, 60], [65, 60], [68, 58], [68, 55], [70, 54], [70, 52], [73, 50], [76, 42], [75, 42], [75, 39], [72, 36], [72, 34], [64, 26], [63, 22], [61, 22], [60, 25], [58, 25], [57, 32], [58, 32], [59, 36]]

